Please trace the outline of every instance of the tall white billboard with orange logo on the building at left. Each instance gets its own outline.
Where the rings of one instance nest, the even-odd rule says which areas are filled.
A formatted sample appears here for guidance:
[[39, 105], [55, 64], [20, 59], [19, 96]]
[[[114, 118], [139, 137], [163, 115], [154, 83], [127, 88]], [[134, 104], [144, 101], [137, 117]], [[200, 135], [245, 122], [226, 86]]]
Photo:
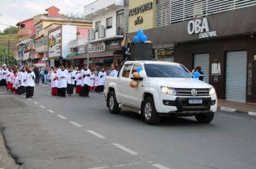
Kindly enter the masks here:
[[61, 30], [57, 29], [48, 36], [48, 52], [49, 57], [61, 56]]

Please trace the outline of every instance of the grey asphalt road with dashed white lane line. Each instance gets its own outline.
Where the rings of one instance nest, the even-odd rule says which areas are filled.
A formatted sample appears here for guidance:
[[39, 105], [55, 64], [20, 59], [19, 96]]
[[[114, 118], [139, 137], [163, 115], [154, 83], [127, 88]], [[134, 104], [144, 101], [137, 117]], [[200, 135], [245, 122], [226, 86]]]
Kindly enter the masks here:
[[0, 125], [22, 168], [256, 168], [256, 117], [218, 111], [146, 125], [140, 115], [112, 115], [104, 96], [52, 97], [35, 87], [25, 99], [0, 89]]

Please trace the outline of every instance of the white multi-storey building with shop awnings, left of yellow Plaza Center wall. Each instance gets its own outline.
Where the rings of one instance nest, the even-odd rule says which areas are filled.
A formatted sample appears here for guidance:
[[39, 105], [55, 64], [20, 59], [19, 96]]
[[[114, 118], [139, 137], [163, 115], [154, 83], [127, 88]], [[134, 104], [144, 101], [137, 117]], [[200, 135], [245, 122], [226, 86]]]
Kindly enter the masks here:
[[[91, 69], [110, 69], [118, 65], [122, 59], [121, 42], [124, 37], [124, 1], [95, 1], [84, 6], [84, 16], [93, 21], [90, 29], [89, 67]], [[87, 62], [87, 44], [78, 47], [76, 64]]]

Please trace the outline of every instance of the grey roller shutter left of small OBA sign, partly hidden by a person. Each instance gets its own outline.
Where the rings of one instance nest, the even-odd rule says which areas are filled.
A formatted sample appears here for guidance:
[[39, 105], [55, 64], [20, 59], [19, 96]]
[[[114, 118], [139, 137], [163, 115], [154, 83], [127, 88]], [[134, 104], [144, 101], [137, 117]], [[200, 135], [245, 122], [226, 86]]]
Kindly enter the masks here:
[[193, 68], [197, 66], [204, 72], [204, 82], [209, 83], [209, 54], [194, 54]]

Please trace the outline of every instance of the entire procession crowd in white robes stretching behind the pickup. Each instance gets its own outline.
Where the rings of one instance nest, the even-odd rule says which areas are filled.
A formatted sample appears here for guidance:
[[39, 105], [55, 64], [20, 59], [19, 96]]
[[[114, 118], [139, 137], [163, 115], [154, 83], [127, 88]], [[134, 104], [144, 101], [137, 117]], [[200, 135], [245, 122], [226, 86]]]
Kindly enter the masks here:
[[[114, 69], [109, 74], [117, 77], [118, 69]], [[6, 87], [6, 90], [24, 95], [24, 97], [34, 97], [34, 87], [40, 83], [47, 84], [50, 82], [51, 95], [66, 97], [66, 95], [80, 95], [89, 97], [89, 92], [103, 93], [106, 79], [105, 69], [100, 71], [88, 69], [87, 65], [83, 69], [72, 66], [65, 68], [60, 67], [0, 67], [0, 86]], [[75, 93], [74, 93], [75, 90]]]

